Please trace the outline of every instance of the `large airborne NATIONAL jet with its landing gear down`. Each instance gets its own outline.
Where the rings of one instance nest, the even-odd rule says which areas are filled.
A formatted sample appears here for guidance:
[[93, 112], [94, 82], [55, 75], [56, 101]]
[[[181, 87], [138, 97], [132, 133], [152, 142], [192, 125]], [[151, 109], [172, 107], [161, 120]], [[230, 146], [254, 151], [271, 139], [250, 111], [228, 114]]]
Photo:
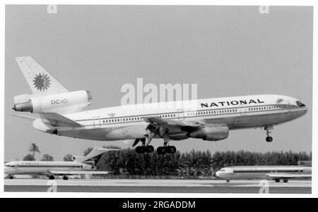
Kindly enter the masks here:
[[121, 140], [133, 147], [141, 143], [136, 146], [139, 154], [154, 151], [150, 145], [153, 138], [164, 141], [158, 154], [174, 154], [177, 149], [169, 145], [170, 140], [218, 141], [228, 138], [229, 130], [247, 128], [264, 129], [266, 142], [272, 142], [269, 134], [274, 125], [307, 113], [307, 106], [298, 99], [275, 94], [197, 99], [189, 108], [184, 107], [189, 101], [175, 101], [172, 108], [164, 107], [171, 102], [161, 102], [84, 111], [92, 102], [89, 91], [69, 92], [30, 56], [16, 61], [33, 94], [14, 96], [13, 110], [39, 114], [40, 118], [18, 116], [33, 120], [37, 130], [53, 135]]

